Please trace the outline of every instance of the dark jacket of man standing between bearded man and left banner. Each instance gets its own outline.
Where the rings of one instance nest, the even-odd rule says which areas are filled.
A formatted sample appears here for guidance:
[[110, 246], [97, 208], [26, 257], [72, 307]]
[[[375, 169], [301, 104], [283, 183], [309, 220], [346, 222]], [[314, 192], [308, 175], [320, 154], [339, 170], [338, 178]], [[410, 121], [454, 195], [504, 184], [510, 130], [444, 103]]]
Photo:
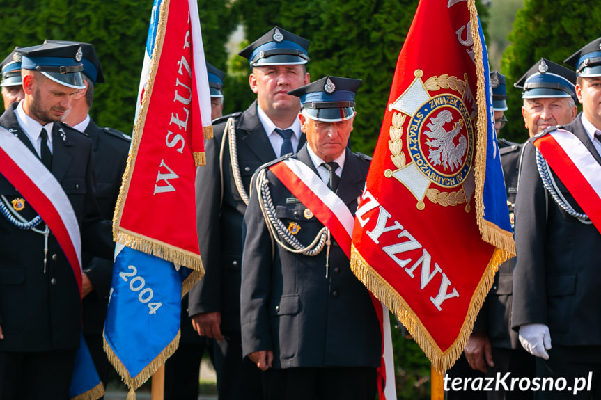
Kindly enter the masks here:
[[[116, 129], [100, 128], [90, 120], [86, 134], [92, 139], [95, 159], [96, 201], [102, 218], [112, 221], [132, 139]], [[84, 297], [84, 335], [102, 335], [107, 317], [113, 262], [84, 253], [84, 272], [94, 290]]]

